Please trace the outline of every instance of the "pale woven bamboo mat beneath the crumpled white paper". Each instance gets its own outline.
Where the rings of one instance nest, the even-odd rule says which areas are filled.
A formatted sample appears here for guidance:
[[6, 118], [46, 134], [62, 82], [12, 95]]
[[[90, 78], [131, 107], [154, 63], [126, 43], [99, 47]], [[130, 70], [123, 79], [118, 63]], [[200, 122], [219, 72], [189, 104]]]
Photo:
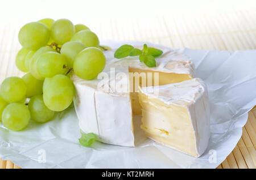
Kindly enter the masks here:
[[[255, 22], [254, 9], [211, 14], [170, 13], [154, 18], [114, 18], [86, 25], [102, 40], [148, 41], [172, 48], [244, 50], [256, 49]], [[14, 25], [0, 27], [0, 82], [6, 76], [23, 75], [15, 67], [15, 55], [20, 49], [18, 31]], [[248, 115], [242, 138], [218, 168], [255, 168], [256, 108]], [[19, 167], [0, 160], [0, 168]]]

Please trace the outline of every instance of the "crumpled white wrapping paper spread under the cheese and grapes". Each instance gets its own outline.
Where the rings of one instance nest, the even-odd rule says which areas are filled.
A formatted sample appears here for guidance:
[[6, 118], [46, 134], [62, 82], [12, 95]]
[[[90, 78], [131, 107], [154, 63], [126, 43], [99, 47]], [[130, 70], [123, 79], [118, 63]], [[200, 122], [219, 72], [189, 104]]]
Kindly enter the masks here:
[[[143, 43], [102, 44], [118, 48]], [[139, 116], [134, 119], [137, 147], [100, 142], [83, 147], [79, 144], [78, 119], [72, 109], [63, 118], [57, 115], [48, 123], [31, 121], [20, 132], [9, 131], [0, 123], [0, 158], [21, 168], [216, 168], [236, 146], [247, 112], [256, 105], [256, 50], [177, 51], [192, 58], [196, 77], [208, 85], [211, 136], [201, 157], [191, 157], [147, 139], [139, 127]]]

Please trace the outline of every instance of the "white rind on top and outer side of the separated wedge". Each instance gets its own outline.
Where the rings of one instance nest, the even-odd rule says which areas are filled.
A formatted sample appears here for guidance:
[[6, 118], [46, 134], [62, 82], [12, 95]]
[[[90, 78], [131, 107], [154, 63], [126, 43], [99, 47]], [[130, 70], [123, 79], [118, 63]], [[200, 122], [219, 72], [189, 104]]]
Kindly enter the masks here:
[[[203, 80], [194, 78], [180, 83], [160, 85], [158, 95], [155, 95], [154, 87], [143, 87], [140, 88], [140, 91], [146, 96], [164, 102], [164, 104], [188, 108], [197, 152], [195, 157], [201, 156], [207, 149], [210, 138], [208, 91]], [[172, 148], [180, 151], [175, 147]]]

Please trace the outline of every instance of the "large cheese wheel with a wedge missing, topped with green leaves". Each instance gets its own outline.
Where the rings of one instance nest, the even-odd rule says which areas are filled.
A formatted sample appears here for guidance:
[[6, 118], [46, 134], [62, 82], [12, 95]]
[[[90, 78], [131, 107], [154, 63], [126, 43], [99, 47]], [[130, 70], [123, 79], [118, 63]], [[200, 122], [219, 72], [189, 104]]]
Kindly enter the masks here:
[[[168, 48], [161, 50], [163, 55], [156, 58], [156, 67], [147, 67], [139, 62], [138, 57], [115, 59], [115, 50], [108, 50], [104, 52], [106, 66], [97, 79], [82, 80], [76, 75], [72, 76], [77, 92], [75, 109], [82, 131], [94, 132], [104, 143], [134, 146], [133, 115], [141, 114], [139, 85], [176, 83], [194, 76], [194, 65], [187, 56]], [[146, 72], [148, 83], [143, 85], [142, 78], [134, 82], [131, 72], [138, 72], [139, 75]], [[150, 76], [147, 72], [154, 73]], [[155, 72], [158, 76], [154, 75]], [[159, 80], [158, 83], [155, 83], [155, 78]], [[127, 88], [120, 91], [117, 87]], [[131, 87], [137, 91], [130, 92]]]

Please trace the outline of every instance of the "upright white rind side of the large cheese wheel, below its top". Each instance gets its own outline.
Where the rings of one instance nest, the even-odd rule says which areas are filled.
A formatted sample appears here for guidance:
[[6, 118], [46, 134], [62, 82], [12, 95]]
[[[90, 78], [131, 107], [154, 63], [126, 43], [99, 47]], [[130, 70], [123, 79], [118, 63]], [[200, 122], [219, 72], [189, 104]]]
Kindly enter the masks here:
[[134, 147], [133, 117], [129, 93], [122, 97], [76, 84], [74, 99], [79, 126], [93, 132], [102, 143]]

